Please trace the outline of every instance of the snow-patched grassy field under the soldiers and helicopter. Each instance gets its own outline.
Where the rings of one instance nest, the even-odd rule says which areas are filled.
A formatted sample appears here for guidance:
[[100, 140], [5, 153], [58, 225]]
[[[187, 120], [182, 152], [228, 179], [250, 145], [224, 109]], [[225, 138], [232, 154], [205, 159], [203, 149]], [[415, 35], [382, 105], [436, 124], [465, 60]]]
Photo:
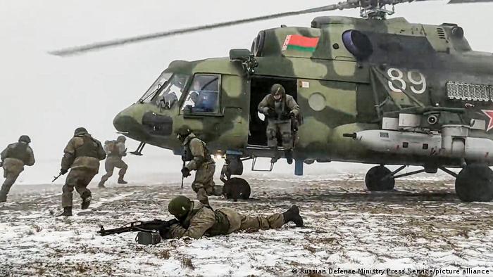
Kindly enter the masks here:
[[[99, 224], [169, 219], [171, 198], [193, 197], [189, 183], [183, 190], [179, 183], [106, 189], [92, 183], [91, 208], [81, 211], [75, 195], [71, 218], [53, 216], [61, 212], [61, 185], [14, 186], [0, 205], [0, 276], [434, 275], [412, 271], [423, 269], [441, 269], [436, 276], [493, 275], [493, 203], [460, 202], [446, 176], [398, 180], [391, 193], [369, 193], [361, 174], [301, 179], [257, 174], [249, 181], [251, 200], [211, 198], [211, 204], [251, 215], [296, 204], [306, 226], [138, 245], [135, 233], [98, 236]], [[337, 269], [342, 272], [335, 274]], [[468, 269], [489, 273], [463, 274]]]

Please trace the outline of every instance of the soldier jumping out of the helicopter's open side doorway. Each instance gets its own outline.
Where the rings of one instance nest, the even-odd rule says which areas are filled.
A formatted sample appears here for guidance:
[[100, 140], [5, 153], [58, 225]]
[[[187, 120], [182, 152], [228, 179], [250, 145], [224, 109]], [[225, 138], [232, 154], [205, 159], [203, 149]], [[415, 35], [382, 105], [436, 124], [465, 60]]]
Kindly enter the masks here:
[[[277, 134], [282, 138], [282, 147], [285, 148], [285, 155], [288, 164], [292, 164], [292, 120], [296, 120], [299, 114], [299, 106], [294, 98], [286, 94], [284, 87], [274, 84], [270, 88], [270, 94], [258, 103], [258, 112], [266, 115], [267, 118], [267, 146], [277, 149]], [[277, 161], [273, 157], [272, 162]]]

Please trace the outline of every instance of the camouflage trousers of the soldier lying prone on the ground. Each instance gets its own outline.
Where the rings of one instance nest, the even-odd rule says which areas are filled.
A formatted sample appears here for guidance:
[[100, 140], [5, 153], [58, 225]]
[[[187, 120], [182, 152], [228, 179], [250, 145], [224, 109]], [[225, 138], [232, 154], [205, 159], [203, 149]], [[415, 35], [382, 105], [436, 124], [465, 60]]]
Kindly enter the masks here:
[[239, 214], [239, 212], [230, 208], [218, 208], [217, 211], [226, 214], [227, 220], [230, 221], [230, 230], [227, 233], [239, 230], [275, 229], [284, 224], [284, 216], [282, 214], [270, 214], [268, 217], [250, 217]]

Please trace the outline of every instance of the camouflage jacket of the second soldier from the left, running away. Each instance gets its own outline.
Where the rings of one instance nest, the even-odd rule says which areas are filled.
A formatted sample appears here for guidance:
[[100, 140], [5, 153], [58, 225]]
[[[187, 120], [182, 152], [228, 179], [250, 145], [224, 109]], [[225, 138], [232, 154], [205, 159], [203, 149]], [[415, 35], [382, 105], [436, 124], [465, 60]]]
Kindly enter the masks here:
[[89, 134], [74, 136], [63, 150], [62, 169], [85, 168], [99, 172], [99, 161], [104, 160], [101, 143]]

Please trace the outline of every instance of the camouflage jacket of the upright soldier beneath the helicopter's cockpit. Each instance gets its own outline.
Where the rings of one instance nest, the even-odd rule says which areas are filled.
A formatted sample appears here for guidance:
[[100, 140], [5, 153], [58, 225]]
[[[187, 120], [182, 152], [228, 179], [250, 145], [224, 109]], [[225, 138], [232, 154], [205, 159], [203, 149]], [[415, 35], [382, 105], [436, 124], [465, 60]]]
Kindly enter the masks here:
[[193, 133], [189, 134], [185, 141], [183, 141], [184, 148], [184, 160], [188, 161], [187, 169], [196, 170], [204, 163], [215, 163], [208, 153], [206, 143], [197, 138]]

